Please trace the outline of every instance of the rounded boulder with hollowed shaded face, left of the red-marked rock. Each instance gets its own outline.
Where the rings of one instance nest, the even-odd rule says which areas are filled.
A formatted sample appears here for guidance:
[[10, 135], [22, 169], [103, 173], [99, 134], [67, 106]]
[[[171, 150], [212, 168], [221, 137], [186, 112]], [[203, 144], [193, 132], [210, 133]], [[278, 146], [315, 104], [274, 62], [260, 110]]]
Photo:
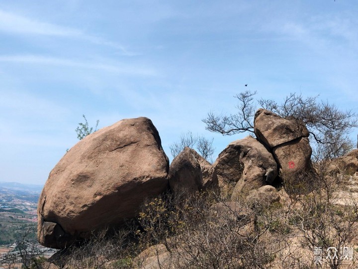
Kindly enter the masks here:
[[231, 142], [214, 163], [224, 195], [235, 195], [272, 183], [277, 163], [268, 149], [252, 136]]

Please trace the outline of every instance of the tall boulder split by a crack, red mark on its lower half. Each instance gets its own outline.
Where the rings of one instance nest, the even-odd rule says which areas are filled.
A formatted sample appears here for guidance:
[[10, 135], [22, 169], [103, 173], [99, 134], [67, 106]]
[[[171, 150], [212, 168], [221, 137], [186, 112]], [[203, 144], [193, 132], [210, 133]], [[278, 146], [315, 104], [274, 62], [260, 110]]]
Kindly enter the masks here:
[[280, 172], [294, 175], [312, 171], [309, 133], [302, 122], [283, 119], [268, 110], [259, 109], [254, 127], [258, 139], [272, 150]]

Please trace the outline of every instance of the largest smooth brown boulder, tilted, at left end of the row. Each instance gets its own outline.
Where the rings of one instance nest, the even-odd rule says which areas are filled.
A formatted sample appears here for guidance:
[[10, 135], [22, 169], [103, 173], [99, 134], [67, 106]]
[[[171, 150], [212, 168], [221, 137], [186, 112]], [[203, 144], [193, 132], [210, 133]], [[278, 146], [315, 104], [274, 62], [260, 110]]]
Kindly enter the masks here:
[[167, 189], [168, 170], [148, 118], [122, 120], [88, 135], [50, 172], [38, 203], [38, 241], [60, 249], [123, 224], [146, 197]]

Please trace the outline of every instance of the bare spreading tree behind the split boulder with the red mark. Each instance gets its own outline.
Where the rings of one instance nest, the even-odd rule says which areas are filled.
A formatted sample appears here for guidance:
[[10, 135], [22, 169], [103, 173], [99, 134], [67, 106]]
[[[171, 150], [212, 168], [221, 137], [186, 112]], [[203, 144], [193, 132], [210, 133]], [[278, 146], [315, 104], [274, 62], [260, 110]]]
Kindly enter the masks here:
[[352, 110], [341, 111], [334, 104], [319, 101], [318, 96], [305, 98], [296, 93], [291, 93], [282, 103], [262, 98], [255, 101], [256, 93], [245, 91], [235, 96], [238, 99], [237, 114], [217, 116], [209, 112], [202, 120], [205, 129], [224, 135], [254, 133], [254, 113], [262, 107], [283, 118], [302, 121], [314, 138], [311, 140], [314, 142], [313, 156], [318, 160], [336, 158], [352, 149], [349, 134], [358, 127], [357, 114]]

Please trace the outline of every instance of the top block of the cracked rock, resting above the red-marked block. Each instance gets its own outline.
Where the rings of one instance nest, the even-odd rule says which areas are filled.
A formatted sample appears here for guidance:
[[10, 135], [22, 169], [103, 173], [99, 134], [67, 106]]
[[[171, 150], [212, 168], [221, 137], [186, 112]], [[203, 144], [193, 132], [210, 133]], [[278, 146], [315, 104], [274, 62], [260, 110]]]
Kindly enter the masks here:
[[265, 109], [255, 113], [254, 132], [270, 148], [309, 135], [302, 122], [281, 118]]

